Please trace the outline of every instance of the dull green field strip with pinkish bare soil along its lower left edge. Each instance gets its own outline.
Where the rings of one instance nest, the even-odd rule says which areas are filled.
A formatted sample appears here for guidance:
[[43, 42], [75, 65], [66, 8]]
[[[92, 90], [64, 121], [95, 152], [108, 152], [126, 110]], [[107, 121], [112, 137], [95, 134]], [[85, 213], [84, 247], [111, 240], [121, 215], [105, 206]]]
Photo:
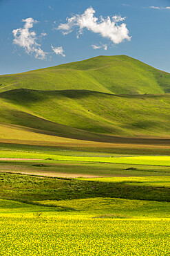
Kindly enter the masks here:
[[128, 177], [170, 176], [170, 167], [153, 165], [125, 165], [118, 163], [87, 163], [78, 161], [1, 161], [1, 172], [17, 172], [41, 176], [63, 177]]

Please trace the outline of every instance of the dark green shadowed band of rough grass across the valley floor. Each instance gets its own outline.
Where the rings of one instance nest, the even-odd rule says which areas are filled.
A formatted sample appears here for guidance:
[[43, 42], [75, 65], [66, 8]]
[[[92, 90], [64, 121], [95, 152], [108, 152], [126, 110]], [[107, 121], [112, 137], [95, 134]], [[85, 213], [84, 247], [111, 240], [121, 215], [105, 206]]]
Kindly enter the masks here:
[[[140, 178], [142, 182], [143, 178]], [[162, 183], [162, 177], [155, 181]], [[168, 180], [168, 179], [167, 179]], [[111, 197], [148, 201], [170, 201], [170, 191], [166, 187], [149, 186], [138, 183], [86, 181], [75, 179], [54, 179], [23, 174], [0, 173], [0, 198], [25, 202], [45, 200], [87, 199]], [[154, 178], [152, 178], [152, 183]]]

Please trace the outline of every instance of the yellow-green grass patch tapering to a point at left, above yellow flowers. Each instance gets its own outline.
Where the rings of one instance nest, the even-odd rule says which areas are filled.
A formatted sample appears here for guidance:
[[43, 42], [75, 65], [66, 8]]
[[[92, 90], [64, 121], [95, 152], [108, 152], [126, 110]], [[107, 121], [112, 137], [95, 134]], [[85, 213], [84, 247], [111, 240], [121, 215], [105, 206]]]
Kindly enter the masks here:
[[89, 198], [72, 200], [35, 201], [46, 206], [74, 209], [74, 214], [89, 215], [100, 218], [149, 218], [170, 217], [170, 203], [140, 201], [116, 198]]

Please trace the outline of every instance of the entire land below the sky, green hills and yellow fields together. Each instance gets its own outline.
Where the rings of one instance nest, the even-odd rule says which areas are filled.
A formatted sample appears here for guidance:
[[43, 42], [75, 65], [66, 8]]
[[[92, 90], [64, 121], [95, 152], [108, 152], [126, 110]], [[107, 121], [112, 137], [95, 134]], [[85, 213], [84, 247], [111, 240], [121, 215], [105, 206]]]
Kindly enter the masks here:
[[0, 255], [169, 255], [169, 82], [125, 55], [0, 76]]

